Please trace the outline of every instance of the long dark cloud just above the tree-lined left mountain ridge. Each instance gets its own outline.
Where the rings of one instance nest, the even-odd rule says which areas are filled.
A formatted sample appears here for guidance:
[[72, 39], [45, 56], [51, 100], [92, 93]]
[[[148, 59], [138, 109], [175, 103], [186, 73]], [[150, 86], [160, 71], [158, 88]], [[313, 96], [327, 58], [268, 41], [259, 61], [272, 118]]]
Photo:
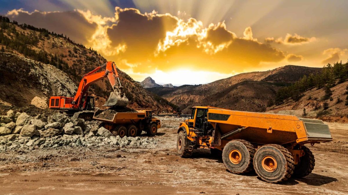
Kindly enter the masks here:
[[18, 23], [26, 23], [38, 28], [46, 28], [57, 34], [66, 34], [77, 43], [86, 44], [95, 32], [97, 25], [89, 23], [85, 17], [77, 11], [64, 12], [40, 12], [29, 13], [22, 10], [8, 12], [11, 20]]

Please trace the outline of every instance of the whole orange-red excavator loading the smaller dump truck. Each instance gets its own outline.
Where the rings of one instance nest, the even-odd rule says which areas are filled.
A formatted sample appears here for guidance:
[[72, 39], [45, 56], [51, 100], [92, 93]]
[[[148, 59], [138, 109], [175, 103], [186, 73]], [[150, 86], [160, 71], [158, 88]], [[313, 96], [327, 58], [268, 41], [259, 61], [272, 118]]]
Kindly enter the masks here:
[[[105, 71], [99, 71], [103, 67], [105, 67]], [[90, 85], [105, 77], [108, 77], [113, 92], [110, 92], [110, 96], [103, 106], [126, 107], [128, 99], [123, 93], [116, 65], [114, 62], [108, 61], [82, 77], [74, 97], [70, 97], [67, 94], [50, 97], [49, 108], [62, 110], [66, 115], [73, 115], [87, 120], [92, 119], [95, 101], [94, 96], [88, 95], [88, 89]]]

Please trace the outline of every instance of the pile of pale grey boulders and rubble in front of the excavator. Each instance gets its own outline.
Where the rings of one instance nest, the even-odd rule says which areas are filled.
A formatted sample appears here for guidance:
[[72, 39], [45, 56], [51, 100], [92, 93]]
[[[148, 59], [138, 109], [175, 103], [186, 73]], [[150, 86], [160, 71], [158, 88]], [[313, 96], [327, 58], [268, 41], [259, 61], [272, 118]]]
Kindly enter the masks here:
[[104, 127], [98, 128], [99, 121], [88, 121], [54, 113], [47, 118], [42, 115], [31, 117], [25, 112], [0, 116], [0, 152], [12, 149], [34, 150], [61, 146], [154, 147], [153, 138], [112, 136]]

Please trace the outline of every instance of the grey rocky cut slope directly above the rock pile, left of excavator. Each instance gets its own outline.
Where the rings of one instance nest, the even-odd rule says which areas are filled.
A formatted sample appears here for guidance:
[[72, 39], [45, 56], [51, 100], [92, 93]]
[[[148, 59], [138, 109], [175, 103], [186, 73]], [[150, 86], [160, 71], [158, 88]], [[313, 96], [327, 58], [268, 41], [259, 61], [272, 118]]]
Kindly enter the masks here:
[[1, 100], [19, 107], [47, 108], [49, 96], [77, 90], [62, 70], [11, 53], [0, 52], [0, 80]]

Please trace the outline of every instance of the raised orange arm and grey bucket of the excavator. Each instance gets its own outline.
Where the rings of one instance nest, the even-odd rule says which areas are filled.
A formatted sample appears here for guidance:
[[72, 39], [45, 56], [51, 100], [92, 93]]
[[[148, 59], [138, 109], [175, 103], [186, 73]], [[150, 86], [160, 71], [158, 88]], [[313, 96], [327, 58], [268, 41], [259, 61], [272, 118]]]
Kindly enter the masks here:
[[[97, 72], [104, 66], [106, 67], [105, 71]], [[95, 68], [94, 70], [90, 71], [89, 73], [85, 74], [82, 77], [78, 90], [73, 100], [74, 105], [77, 106], [76, 109], [80, 107], [83, 97], [88, 96], [88, 89], [90, 85], [92, 85], [93, 83], [105, 77], [108, 77], [109, 82], [113, 88], [113, 92], [110, 93], [108, 101], [106, 101], [104, 106], [125, 107], [128, 104], [128, 99], [122, 91], [122, 85], [119, 79], [119, 75], [117, 73], [116, 65], [114, 62], [108, 61], [103, 66], [99, 66]], [[86, 102], [87, 102], [87, 98], [84, 99], [84, 102], [82, 104], [82, 109], [85, 108]]]

